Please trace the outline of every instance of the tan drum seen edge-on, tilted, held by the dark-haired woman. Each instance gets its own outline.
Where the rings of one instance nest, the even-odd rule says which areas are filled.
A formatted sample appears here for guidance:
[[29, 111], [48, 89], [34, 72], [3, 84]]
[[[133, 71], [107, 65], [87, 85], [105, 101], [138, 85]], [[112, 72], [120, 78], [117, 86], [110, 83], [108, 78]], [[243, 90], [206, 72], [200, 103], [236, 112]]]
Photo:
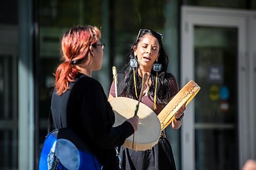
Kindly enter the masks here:
[[184, 105], [188, 103], [196, 96], [201, 87], [190, 80], [175, 96], [174, 98], [163, 108], [158, 114], [158, 118], [161, 124], [161, 130], [164, 130], [175, 118], [174, 114]]

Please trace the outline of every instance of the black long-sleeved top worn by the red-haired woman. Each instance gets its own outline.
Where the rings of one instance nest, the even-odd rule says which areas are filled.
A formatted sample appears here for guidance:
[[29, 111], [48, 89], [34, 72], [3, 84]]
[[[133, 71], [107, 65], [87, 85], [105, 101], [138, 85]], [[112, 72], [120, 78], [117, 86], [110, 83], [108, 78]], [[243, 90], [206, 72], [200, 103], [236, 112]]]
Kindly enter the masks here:
[[117, 169], [114, 147], [134, 133], [129, 122], [113, 128], [115, 115], [98, 81], [79, 74], [62, 95], [54, 89], [51, 102], [55, 128], [71, 128], [99, 159], [104, 169]]

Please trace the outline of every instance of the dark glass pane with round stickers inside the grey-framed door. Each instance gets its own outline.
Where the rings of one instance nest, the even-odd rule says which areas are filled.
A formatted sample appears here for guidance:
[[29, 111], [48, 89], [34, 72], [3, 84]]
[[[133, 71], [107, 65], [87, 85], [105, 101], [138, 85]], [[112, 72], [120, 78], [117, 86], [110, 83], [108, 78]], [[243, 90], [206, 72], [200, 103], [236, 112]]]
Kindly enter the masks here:
[[238, 169], [238, 28], [194, 26], [196, 169]]

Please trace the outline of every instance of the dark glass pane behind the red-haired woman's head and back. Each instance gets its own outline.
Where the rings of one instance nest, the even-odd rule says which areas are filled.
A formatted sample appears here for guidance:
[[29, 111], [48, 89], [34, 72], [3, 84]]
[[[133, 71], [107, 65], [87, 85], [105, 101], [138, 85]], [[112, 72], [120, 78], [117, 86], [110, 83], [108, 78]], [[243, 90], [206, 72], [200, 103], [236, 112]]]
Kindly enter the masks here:
[[101, 27], [101, 1], [39, 1], [39, 142], [45, 140], [55, 82], [60, 63], [60, 40], [75, 25]]

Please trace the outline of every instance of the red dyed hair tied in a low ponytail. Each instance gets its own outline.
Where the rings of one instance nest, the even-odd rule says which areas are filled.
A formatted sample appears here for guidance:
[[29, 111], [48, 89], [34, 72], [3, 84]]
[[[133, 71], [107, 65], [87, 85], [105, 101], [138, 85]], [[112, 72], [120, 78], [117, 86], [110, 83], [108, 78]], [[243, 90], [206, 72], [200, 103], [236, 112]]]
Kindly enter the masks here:
[[55, 87], [58, 95], [69, 89], [69, 82], [73, 82], [78, 74], [75, 63], [86, 62], [90, 45], [100, 38], [100, 30], [89, 25], [73, 27], [63, 35], [61, 40], [62, 63], [55, 72]]

